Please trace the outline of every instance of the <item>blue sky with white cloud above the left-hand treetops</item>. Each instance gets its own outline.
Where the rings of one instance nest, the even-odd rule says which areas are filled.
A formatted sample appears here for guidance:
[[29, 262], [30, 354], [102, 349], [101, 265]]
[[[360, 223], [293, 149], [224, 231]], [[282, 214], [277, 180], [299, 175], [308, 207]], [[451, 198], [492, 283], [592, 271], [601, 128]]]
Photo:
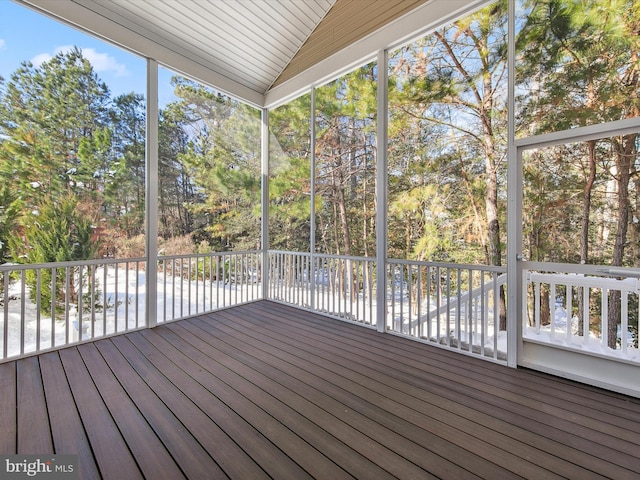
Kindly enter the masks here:
[[[61, 51], [79, 47], [112, 97], [146, 91], [143, 58], [98, 40], [28, 8], [0, 0], [0, 76], [8, 80], [23, 61], [40, 65]], [[171, 73], [160, 69], [160, 104], [171, 100]]]

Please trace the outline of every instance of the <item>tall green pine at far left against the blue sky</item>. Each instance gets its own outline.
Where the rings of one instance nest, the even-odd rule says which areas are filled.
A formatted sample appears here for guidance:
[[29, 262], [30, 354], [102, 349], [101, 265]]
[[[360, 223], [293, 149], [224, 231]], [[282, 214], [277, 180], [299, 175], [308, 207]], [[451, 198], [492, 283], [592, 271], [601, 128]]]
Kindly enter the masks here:
[[[98, 208], [93, 173], [106, 161], [99, 144], [108, 143], [108, 102], [109, 90], [77, 48], [39, 67], [25, 62], [11, 75], [0, 98], [0, 180], [12, 195], [1, 208], [19, 212], [22, 228], [47, 202], [67, 196], [88, 201], [87, 211]], [[19, 229], [5, 234], [3, 244], [20, 244]]]

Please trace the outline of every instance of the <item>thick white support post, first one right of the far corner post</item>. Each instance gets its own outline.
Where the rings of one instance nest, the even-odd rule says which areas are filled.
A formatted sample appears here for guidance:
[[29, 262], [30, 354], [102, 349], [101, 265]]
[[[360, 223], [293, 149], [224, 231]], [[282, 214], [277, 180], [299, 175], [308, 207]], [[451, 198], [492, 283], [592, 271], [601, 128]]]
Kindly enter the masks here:
[[387, 140], [388, 140], [388, 63], [386, 50], [378, 52], [377, 151], [376, 151], [376, 328], [387, 325]]

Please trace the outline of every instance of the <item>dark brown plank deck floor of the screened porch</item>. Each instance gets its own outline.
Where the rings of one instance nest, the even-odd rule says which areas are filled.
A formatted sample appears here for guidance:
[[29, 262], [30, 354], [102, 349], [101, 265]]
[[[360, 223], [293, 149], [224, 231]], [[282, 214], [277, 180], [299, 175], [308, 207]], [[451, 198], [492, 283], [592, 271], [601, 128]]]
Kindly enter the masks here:
[[0, 365], [83, 479], [640, 478], [640, 400], [261, 301]]

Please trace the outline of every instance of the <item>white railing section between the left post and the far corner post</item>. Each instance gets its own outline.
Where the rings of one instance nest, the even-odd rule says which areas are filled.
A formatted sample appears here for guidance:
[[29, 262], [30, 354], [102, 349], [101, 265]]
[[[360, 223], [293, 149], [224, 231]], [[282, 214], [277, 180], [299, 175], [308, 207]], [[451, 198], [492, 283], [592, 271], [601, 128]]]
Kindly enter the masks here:
[[258, 300], [261, 277], [259, 251], [159, 257], [157, 322]]

